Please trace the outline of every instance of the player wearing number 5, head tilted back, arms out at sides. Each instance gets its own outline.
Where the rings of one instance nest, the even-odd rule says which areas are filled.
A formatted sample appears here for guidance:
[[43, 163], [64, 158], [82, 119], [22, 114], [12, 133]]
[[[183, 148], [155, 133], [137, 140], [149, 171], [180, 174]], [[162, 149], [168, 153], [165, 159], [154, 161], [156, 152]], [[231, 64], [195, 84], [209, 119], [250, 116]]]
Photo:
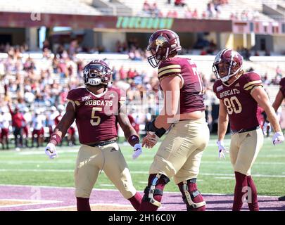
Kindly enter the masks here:
[[125, 96], [120, 94], [119, 89], [108, 87], [111, 75], [103, 60], [93, 60], [85, 66], [86, 87], [69, 91], [66, 112], [45, 149], [49, 158], [56, 158], [56, 145], [76, 120], [82, 144], [75, 168], [75, 195], [79, 211], [90, 210], [89, 196], [102, 170], [136, 210], [139, 210], [141, 203], [141, 195], [132, 184], [129, 168], [116, 142], [117, 123], [134, 148], [134, 159], [141, 154], [141, 145], [125, 113]]

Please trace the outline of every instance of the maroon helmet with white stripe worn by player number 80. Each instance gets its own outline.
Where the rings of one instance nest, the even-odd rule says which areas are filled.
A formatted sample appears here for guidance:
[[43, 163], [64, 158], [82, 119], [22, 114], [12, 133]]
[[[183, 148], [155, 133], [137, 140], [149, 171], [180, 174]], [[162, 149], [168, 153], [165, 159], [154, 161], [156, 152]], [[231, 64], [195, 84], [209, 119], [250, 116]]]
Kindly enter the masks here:
[[[215, 58], [213, 63], [213, 72], [217, 79], [221, 79], [222, 82], [227, 82], [229, 77], [238, 74], [242, 70], [243, 57], [232, 49], [223, 49]], [[223, 69], [222, 73], [227, 71], [227, 75], [220, 74], [220, 70]]]

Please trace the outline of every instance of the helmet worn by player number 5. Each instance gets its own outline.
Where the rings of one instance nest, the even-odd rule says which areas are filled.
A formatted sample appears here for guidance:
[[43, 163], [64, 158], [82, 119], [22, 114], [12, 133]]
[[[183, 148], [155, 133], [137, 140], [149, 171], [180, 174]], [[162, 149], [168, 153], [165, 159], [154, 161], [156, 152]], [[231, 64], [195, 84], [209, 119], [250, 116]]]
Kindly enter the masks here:
[[92, 60], [83, 70], [84, 84], [97, 86], [99, 84], [106, 84], [110, 82], [112, 70], [108, 64], [103, 60]]

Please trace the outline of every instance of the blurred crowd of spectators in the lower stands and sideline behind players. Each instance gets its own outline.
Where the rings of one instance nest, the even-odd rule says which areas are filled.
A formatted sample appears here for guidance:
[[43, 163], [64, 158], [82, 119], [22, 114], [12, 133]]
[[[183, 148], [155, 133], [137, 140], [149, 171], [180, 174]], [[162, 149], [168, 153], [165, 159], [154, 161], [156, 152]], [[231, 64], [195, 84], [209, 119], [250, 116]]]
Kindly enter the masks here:
[[[135, 39], [129, 42], [132, 43], [131, 49], [136, 51]], [[127, 49], [124, 51], [127, 52]], [[25, 46], [1, 45], [1, 50], [8, 53], [7, 58], [0, 58], [2, 148], [11, 147], [9, 140], [13, 140], [17, 148], [42, 146], [64, 113], [68, 91], [84, 85], [82, 70], [87, 62], [77, 58], [76, 51], [70, 52], [69, 49], [62, 49], [52, 54], [48, 48], [44, 48], [40, 59], [24, 57]], [[119, 43], [118, 52], [120, 52]], [[130, 52], [129, 56], [132, 55]], [[143, 57], [140, 57], [139, 60], [142, 59]], [[137, 68], [125, 68], [124, 65], [115, 67], [112, 62], [109, 64], [113, 67], [113, 86], [126, 91], [129, 119], [137, 132], [143, 135], [143, 125], [158, 115], [162, 99], [156, 70], [147, 70], [147, 68], [137, 70]], [[212, 91], [215, 76], [212, 75], [208, 79], [209, 75], [201, 75], [205, 85], [208, 122], [210, 129], [214, 131], [217, 122], [215, 121], [217, 98]], [[282, 76], [281, 69], [277, 67], [274, 79], [268, 79], [266, 74], [262, 79], [267, 85], [279, 84]], [[75, 124], [72, 124], [65, 138], [68, 145], [76, 143], [75, 127]]]

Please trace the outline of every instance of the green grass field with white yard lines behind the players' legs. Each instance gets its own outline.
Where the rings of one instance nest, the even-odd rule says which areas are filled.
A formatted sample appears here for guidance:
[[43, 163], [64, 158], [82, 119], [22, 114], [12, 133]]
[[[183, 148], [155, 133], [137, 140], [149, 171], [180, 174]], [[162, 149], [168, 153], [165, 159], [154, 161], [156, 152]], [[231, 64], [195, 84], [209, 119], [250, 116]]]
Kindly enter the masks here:
[[[272, 146], [271, 138], [265, 144], [252, 168], [252, 176], [259, 195], [285, 195], [285, 144]], [[225, 141], [229, 146], [229, 139]], [[158, 146], [158, 145], [157, 145]], [[132, 148], [120, 144], [132, 174], [134, 186], [143, 191], [157, 147], [144, 148], [137, 160], [132, 160]], [[79, 146], [58, 148], [59, 158], [49, 160], [44, 148], [0, 150], [0, 184], [73, 187], [73, 170]], [[211, 139], [203, 153], [198, 187], [202, 193], [233, 193], [234, 173], [229, 161], [218, 160], [215, 139]], [[94, 188], [115, 189], [102, 172]], [[178, 191], [172, 182], [165, 191]]]

